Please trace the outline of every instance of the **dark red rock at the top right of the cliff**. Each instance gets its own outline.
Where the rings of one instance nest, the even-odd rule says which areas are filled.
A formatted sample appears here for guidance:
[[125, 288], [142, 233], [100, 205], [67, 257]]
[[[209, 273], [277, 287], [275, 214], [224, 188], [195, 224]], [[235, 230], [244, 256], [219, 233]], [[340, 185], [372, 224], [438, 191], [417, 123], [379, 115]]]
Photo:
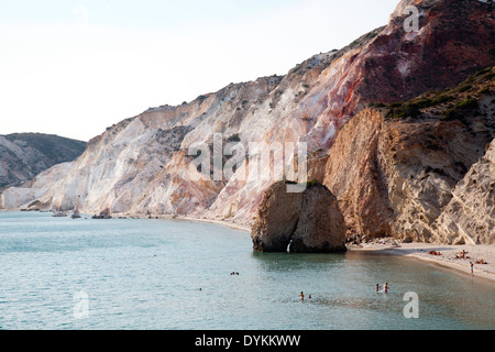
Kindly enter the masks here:
[[[405, 21], [418, 9], [417, 32]], [[460, 84], [495, 63], [493, 3], [468, 0], [404, 0], [388, 25], [358, 53], [349, 52], [323, 72], [327, 108], [318, 118], [321, 146], [371, 102], [400, 102]], [[343, 61], [343, 62], [341, 62]], [[320, 78], [322, 79], [322, 78]], [[316, 130], [315, 130], [316, 132]], [[330, 133], [331, 134], [331, 133]]]

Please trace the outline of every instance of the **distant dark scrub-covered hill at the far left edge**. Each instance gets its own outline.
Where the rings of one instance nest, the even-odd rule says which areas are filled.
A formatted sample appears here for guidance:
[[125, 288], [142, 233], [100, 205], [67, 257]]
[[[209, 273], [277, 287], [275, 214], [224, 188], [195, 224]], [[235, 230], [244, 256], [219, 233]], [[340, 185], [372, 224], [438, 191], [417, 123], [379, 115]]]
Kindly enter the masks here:
[[0, 188], [18, 185], [53, 165], [70, 162], [82, 154], [85, 147], [85, 142], [58, 135], [0, 135]]

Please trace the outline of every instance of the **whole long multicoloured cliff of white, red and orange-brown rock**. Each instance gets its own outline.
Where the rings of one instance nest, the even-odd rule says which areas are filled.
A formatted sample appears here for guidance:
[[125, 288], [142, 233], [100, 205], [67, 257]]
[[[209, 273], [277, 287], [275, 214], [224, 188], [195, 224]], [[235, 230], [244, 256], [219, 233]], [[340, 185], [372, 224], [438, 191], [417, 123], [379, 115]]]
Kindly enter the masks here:
[[[411, 4], [420, 13], [419, 31], [407, 33], [405, 9]], [[222, 146], [229, 141], [246, 147], [250, 142], [307, 142], [309, 177], [324, 182], [338, 197], [350, 229], [432, 239], [432, 223], [483, 156], [493, 130], [480, 116], [466, 123], [459, 118], [463, 109], [475, 110], [469, 101], [454, 106], [470, 99], [460, 100], [461, 91], [452, 92], [458, 100], [429, 107], [404, 101], [420, 95], [435, 100], [426, 92], [452, 89], [494, 65], [494, 28], [491, 2], [404, 0], [388, 25], [340, 51], [315, 55], [284, 77], [231, 84], [109, 128], [64, 166], [61, 177], [48, 170], [32, 185], [9, 188], [0, 207], [38, 200], [46, 208], [88, 212], [109, 208], [250, 222], [273, 179], [190, 177], [199, 170], [190, 168], [189, 147], [204, 143], [213, 151], [215, 134], [221, 134]], [[490, 101], [475, 100], [482, 113], [490, 112]], [[391, 112], [384, 119], [388, 110], [365, 110], [370, 105]], [[249, 165], [246, 157], [243, 166]], [[242, 172], [239, 167], [235, 176]]]

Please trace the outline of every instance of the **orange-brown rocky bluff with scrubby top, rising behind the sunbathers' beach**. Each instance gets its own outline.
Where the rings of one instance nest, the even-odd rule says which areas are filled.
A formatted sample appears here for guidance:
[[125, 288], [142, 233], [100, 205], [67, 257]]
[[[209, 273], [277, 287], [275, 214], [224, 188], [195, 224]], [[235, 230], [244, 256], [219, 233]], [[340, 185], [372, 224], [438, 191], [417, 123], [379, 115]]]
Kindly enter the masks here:
[[455, 88], [364, 110], [341, 130], [322, 180], [352, 232], [426, 242], [495, 240], [488, 148], [494, 77], [487, 68]]

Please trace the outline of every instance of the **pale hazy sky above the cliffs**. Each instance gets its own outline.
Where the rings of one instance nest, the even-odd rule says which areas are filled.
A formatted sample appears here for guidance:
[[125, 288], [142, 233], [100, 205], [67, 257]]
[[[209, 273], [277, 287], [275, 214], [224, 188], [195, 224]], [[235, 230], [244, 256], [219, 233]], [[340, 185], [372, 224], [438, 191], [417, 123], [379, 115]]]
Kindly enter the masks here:
[[89, 140], [150, 107], [285, 75], [398, 0], [2, 0], [0, 134]]

